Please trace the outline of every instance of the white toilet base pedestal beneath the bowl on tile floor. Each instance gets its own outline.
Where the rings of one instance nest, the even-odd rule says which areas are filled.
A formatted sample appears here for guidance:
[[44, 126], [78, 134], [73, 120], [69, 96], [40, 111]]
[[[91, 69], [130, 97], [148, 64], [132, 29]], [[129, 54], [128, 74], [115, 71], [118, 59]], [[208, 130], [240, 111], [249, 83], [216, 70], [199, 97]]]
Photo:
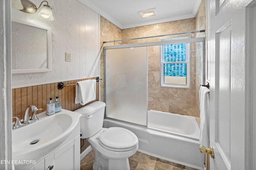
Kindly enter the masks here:
[[122, 159], [107, 159], [92, 145], [94, 150], [93, 170], [130, 170], [128, 158]]

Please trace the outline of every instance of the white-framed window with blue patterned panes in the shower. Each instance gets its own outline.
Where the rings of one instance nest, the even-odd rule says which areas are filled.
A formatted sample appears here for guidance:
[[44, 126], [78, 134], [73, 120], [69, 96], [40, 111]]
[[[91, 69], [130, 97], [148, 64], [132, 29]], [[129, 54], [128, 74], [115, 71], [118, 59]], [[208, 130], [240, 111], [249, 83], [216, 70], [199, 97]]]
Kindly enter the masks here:
[[[190, 37], [168, 38], [161, 41], [185, 38]], [[191, 88], [190, 74], [190, 43], [162, 45], [161, 86]]]

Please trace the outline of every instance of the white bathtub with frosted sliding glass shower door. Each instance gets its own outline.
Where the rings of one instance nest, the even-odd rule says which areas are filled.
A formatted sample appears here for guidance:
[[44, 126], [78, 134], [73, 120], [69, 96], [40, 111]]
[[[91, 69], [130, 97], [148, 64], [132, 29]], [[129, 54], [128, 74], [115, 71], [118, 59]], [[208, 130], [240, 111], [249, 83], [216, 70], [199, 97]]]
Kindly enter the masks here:
[[[132, 131], [138, 137], [140, 152], [202, 169], [204, 155], [199, 150], [199, 127], [195, 117], [148, 110], [148, 47], [161, 49], [162, 45], [178, 43], [189, 46], [201, 43], [204, 47], [204, 38], [104, 47], [104, 127], [124, 127]], [[202, 63], [203, 58], [204, 51]], [[191, 78], [186, 81], [191, 82]]]

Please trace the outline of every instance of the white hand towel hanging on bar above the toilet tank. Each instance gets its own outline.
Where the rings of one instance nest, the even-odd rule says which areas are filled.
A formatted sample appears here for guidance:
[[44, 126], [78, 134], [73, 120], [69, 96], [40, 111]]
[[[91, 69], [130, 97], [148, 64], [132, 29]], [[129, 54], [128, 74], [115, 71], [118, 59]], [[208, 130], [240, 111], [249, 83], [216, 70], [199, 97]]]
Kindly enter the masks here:
[[85, 105], [96, 99], [96, 80], [76, 82], [75, 104]]

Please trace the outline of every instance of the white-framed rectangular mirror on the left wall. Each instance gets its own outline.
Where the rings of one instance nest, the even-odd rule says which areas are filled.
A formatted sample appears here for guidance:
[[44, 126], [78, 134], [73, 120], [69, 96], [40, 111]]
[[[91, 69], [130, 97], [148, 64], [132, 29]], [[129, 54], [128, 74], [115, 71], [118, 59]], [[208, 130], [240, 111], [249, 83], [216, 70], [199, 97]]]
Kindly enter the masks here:
[[52, 71], [51, 28], [12, 19], [12, 74]]

